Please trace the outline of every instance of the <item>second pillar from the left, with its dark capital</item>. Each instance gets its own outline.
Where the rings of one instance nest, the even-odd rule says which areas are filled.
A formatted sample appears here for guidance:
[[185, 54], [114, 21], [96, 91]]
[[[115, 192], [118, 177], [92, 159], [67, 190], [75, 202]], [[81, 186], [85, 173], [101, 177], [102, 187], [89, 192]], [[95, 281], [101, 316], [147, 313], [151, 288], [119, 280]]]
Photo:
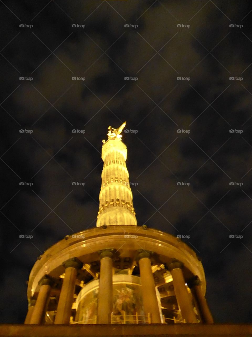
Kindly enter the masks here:
[[39, 295], [36, 300], [31, 319], [29, 324], [42, 324], [46, 305], [48, 303], [48, 299], [51, 292], [51, 286], [53, 285], [53, 280], [48, 275], [45, 275], [40, 281], [39, 281]]

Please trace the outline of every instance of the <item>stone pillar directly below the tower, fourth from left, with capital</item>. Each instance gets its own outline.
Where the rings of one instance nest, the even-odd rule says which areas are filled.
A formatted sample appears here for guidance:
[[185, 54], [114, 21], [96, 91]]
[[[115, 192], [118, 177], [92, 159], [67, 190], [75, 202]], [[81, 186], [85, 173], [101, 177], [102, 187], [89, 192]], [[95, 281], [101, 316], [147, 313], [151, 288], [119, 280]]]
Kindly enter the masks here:
[[98, 324], [110, 324], [113, 310], [113, 257], [115, 249], [104, 249], [100, 254], [98, 292]]

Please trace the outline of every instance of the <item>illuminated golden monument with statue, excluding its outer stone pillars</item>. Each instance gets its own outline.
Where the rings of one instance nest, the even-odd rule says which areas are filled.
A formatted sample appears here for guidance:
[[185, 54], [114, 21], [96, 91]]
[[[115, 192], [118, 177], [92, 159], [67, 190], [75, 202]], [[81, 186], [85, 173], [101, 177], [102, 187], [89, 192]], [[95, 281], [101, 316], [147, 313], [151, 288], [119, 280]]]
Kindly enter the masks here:
[[[55, 302], [57, 302], [61, 280], [65, 277], [64, 262], [72, 258], [79, 259], [83, 266], [78, 270], [77, 279], [74, 281], [78, 291], [74, 295], [74, 298], [77, 299], [72, 305], [72, 309], [78, 307], [78, 310], [75, 322], [71, 317], [70, 324], [80, 321], [81, 324], [97, 324], [100, 252], [113, 249], [113, 265], [111, 266], [111, 271], [113, 270], [114, 274], [113, 281], [116, 278], [123, 280], [122, 285], [117, 286], [119, 288], [116, 288], [114, 284], [113, 319], [115, 322], [114, 320], [113, 322], [125, 324], [126, 316], [127, 321], [132, 323], [136, 320], [138, 322], [136, 317], [139, 315], [139, 317], [142, 316], [145, 323], [150, 323], [149, 316], [144, 317], [141, 305], [136, 310], [136, 303], [141, 296], [134, 290], [133, 282], [133, 279], [138, 279], [139, 284], [141, 283], [140, 277], [134, 275], [139, 275], [137, 262], [139, 252], [145, 251], [150, 254], [160, 321], [167, 323], [164, 321], [165, 319], [173, 321], [175, 318], [177, 323], [184, 323], [174, 293], [172, 274], [166, 269], [167, 265], [174, 258], [178, 259], [184, 266], [183, 278], [187, 280], [198, 275], [202, 293], [205, 295], [204, 269], [196, 253], [180, 239], [146, 226], [137, 226], [129, 173], [126, 167], [127, 147], [121, 140], [121, 132], [125, 125], [126, 122], [117, 129], [109, 126], [108, 140], [102, 141], [101, 158], [104, 165], [101, 174], [96, 228], [66, 236], [38, 258], [29, 277], [28, 299], [38, 296], [39, 281], [44, 275], [49, 275], [55, 280], [51, 296], [54, 296]], [[143, 277], [142, 275], [141, 277]], [[144, 291], [145, 289], [142, 289], [143, 294]], [[192, 297], [189, 288], [187, 292]], [[193, 299], [191, 298], [191, 300]], [[54, 314], [55, 308], [51, 306], [49, 309], [47, 314], [50, 316], [50, 312]], [[164, 315], [162, 310], [164, 310]], [[171, 313], [172, 317], [170, 317]]]

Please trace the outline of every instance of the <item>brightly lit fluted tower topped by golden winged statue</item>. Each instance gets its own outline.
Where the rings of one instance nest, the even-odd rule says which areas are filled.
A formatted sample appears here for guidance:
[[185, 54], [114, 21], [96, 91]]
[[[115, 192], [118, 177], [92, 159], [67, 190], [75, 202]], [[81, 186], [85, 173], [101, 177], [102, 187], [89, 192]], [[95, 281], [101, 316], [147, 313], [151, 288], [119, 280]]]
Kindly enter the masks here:
[[102, 225], [136, 225], [129, 173], [126, 167], [127, 148], [121, 141], [124, 122], [118, 129], [109, 126], [108, 140], [103, 141], [101, 158], [101, 190], [96, 227]]

